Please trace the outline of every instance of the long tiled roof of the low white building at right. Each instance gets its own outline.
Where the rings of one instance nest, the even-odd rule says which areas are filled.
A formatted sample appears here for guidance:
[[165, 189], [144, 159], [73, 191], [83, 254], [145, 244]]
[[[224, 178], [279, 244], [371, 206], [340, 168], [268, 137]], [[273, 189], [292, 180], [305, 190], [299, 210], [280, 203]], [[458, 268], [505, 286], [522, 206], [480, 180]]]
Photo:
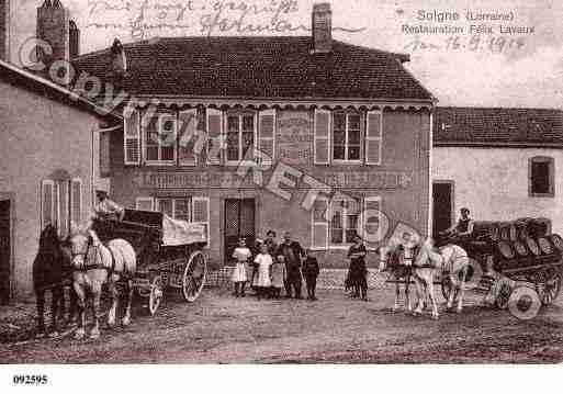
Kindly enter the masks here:
[[563, 147], [563, 111], [437, 106], [433, 145]]

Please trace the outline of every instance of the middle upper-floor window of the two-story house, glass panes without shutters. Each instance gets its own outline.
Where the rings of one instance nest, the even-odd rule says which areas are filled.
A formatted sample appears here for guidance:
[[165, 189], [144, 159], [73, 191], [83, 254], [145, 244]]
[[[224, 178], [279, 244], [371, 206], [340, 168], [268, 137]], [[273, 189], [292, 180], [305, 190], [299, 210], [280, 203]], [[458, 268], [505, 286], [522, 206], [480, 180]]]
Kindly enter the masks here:
[[254, 159], [256, 115], [251, 112], [227, 114], [227, 164]]

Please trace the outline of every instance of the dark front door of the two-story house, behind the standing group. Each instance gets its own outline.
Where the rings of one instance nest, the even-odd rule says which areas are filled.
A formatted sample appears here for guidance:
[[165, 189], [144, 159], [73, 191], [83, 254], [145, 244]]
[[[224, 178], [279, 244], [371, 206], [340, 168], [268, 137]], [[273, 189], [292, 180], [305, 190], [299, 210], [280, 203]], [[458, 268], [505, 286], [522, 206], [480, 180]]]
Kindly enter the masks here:
[[246, 238], [246, 245], [252, 249], [255, 244], [255, 200], [225, 200], [225, 263], [230, 264], [233, 250], [238, 239]]

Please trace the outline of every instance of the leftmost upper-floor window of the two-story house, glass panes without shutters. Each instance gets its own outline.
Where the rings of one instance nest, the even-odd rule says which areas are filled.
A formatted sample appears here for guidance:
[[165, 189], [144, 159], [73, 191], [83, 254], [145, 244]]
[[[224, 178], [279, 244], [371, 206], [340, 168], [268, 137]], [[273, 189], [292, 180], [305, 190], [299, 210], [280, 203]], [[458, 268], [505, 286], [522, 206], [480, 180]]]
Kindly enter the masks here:
[[176, 162], [176, 114], [150, 116], [144, 122], [145, 160], [149, 165]]

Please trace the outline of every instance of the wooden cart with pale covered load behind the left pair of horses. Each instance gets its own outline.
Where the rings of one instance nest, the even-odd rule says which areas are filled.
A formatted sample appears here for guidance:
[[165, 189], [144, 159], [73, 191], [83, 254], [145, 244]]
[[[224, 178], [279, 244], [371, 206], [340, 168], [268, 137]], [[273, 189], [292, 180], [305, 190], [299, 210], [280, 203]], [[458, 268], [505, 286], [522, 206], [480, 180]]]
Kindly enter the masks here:
[[181, 291], [190, 303], [201, 294], [207, 273], [202, 225], [172, 221], [159, 212], [125, 210], [123, 221], [97, 222], [94, 229], [102, 241], [123, 238], [134, 247], [134, 286], [150, 315], [167, 290]]

